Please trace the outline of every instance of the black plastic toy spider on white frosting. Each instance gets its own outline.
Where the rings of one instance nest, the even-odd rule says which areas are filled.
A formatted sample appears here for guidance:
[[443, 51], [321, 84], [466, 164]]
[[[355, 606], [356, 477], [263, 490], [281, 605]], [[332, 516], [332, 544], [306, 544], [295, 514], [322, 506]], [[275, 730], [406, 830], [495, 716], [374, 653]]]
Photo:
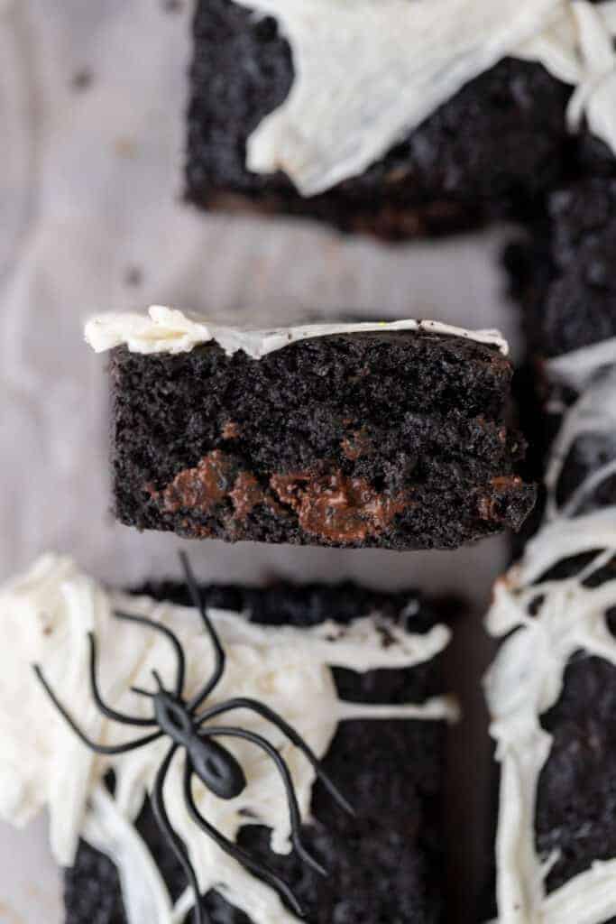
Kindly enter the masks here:
[[332, 783], [332, 780], [320, 766], [319, 759], [308, 747], [304, 739], [296, 732], [296, 729], [286, 723], [281, 715], [272, 711], [264, 703], [256, 699], [227, 699], [215, 706], [211, 706], [209, 709], [201, 711], [201, 707], [206, 699], [208, 699], [212, 690], [217, 687], [223, 676], [224, 651], [220, 639], [205, 611], [205, 606], [199, 592], [199, 586], [192, 573], [186, 554], [180, 553], [180, 558], [184, 567], [187, 587], [190, 591], [192, 602], [199, 610], [203, 625], [211, 638], [211, 644], [214, 650], [213, 673], [195, 696], [191, 699], [184, 698], [186, 658], [184, 650], [182, 649], [179, 639], [175, 636], [175, 633], [167, 628], [167, 626], [155, 623], [145, 616], [115, 613], [115, 617], [118, 619], [124, 619], [127, 622], [136, 623], [139, 626], [147, 626], [156, 632], [160, 632], [171, 642], [175, 650], [177, 661], [174, 690], [167, 690], [163, 687], [163, 681], [157, 671], [152, 671], [157, 685], [156, 692], [151, 693], [139, 687], [131, 687], [135, 693], [152, 700], [153, 715], [151, 719], [126, 715], [123, 712], [115, 711], [115, 709], [112, 709], [103, 702], [97, 680], [96, 639], [91, 632], [88, 635], [90, 642], [91, 693], [98, 708], [103, 712], [103, 715], [108, 719], [115, 720], [115, 722], [134, 725], [136, 727], [151, 727], [155, 728], [156, 731], [123, 745], [99, 745], [91, 741], [91, 739], [79, 728], [79, 725], [56, 697], [54, 690], [50, 687], [42, 674], [39, 665], [34, 666], [35, 674], [40, 680], [47, 695], [54, 703], [55, 708], [65, 718], [66, 723], [70, 725], [75, 734], [79, 736], [80, 740], [97, 754], [125, 754], [127, 751], [143, 748], [151, 744], [152, 741], [157, 741], [163, 736], [171, 740], [171, 747], [167, 751], [156, 774], [151, 793], [151, 803], [156, 821], [173, 848], [175, 856], [187, 875], [188, 883], [195, 893], [196, 924], [206, 924], [206, 921], [210, 921], [210, 918], [201, 901], [197, 875], [190, 863], [187, 849], [169, 821], [163, 799], [165, 778], [169, 772], [175, 753], [181, 748], [184, 749], [185, 753], [184, 797], [192, 820], [199, 825], [201, 831], [208, 834], [225, 853], [230, 857], [234, 857], [238, 863], [241, 863], [242, 866], [248, 869], [253, 875], [272, 886], [273, 889], [284, 897], [288, 905], [293, 908], [297, 915], [304, 917], [304, 911], [289, 885], [272, 869], [251, 857], [246, 850], [228, 840], [222, 833], [214, 828], [199, 812], [195, 797], [192, 793], [192, 782], [195, 776], [198, 777], [201, 783], [210, 789], [215, 796], [219, 796], [222, 799], [236, 798], [236, 796], [239, 796], [246, 788], [247, 780], [242, 767], [233, 754], [215, 740], [216, 738], [243, 738], [257, 748], [261, 748], [261, 750], [265, 751], [272, 759], [284, 783], [286, 801], [291, 820], [291, 839], [297, 854], [312, 869], [315, 869], [321, 875], [327, 875], [326, 870], [320, 866], [320, 863], [308, 853], [307, 848], [302, 844], [300, 831], [301, 817], [291, 773], [283, 757], [266, 738], [254, 732], [250, 732], [248, 729], [231, 725], [209, 725], [208, 723], [216, 716], [238, 709], [257, 712], [261, 718], [274, 724], [296, 748], [299, 748], [304, 753], [319, 776], [320, 781], [325, 785], [336, 802], [338, 802], [345, 811], [351, 814], [353, 814], [353, 808], [351, 808], [344, 796]]

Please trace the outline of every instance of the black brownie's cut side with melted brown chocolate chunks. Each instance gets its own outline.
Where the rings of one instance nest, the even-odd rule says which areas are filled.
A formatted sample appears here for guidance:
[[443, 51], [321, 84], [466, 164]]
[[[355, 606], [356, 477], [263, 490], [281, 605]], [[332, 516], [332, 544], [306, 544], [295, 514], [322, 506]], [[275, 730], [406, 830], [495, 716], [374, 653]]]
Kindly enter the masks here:
[[111, 359], [115, 514], [139, 529], [332, 546], [454, 548], [519, 529], [535, 489], [495, 346], [336, 334], [262, 359], [214, 343]]

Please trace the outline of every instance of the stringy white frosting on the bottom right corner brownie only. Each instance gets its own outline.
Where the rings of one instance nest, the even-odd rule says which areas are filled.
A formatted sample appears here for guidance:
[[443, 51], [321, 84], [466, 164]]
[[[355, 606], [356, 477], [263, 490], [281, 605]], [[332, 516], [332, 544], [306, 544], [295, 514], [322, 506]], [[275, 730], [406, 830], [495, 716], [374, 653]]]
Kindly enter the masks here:
[[[540, 579], [562, 559], [587, 552], [596, 555], [574, 577]], [[575, 651], [616, 665], [616, 638], [605, 619], [616, 606], [616, 580], [583, 586], [615, 554], [616, 508], [559, 519], [526, 545], [522, 561], [494, 590], [489, 632], [504, 636], [517, 630], [502, 643], [485, 678], [490, 733], [501, 762], [500, 924], [602, 924], [616, 914], [616, 860], [595, 864], [546, 896], [545, 877], [555, 857], [542, 862], [535, 848], [537, 782], [552, 742], [540, 716], [560, 698]]]

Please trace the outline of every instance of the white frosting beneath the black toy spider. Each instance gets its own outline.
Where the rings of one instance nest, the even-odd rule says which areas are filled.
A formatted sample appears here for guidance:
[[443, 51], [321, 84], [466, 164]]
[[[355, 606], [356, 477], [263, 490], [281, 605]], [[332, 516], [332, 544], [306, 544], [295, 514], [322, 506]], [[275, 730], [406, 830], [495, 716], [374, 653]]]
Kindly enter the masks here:
[[[151, 687], [154, 667], [170, 686], [174, 653], [160, 634], [115, 620], [114, 609], [146, 614], [173, 627], [187, 652], [187, 695], [194, 694], [209, 675], [211, 643], [194, 610], [105, 592], [71, 559], [43, 556], [25, 575], [0, 589], [3, 635], [11, 640], [0, 672], [0, 815], [23, 824], [46, 806], [59, 863], [72, 862], [79, 834], [83, 834], [117, 863], [130, 924], [144, 920], [172, 924], [182, 919], [192, 896], [187, 893], [172, 907], [150, 853], [132, 825], [168, 744], [158, 741], [114, 758], [93, 754], [54, 710], [31, 671], [32, 663], [42, 664], [60, 699], [94, 739], [117, 744], [139, 736], [139, 729], [107, 721], [92, 704], [87, 694], [86, 633], [93, 629], [99, 641], [104, 699], [133, 715], [147, 716], [151, 704], [129, 687]], [[453, 720], [456, 716], [455, 706], [446, 698], [429, 700], [424, 706], [341, 702], [331, 671], [332, 665], [364, 672], [428, 661], [447, 644], [450, 633], [445, 626], [412, 634], [391, 622], [383, 623], [376, 614], [350, 626], [328, 622], [310, 629], [257, 626], [219, 610], [211, 611], [211, 618], [227, 656], [223, 680], [211, 704], [231, 696], [261, 699], [283, 714], [318, 756], [327, 752], [337, 724], [346, 718]], [[393, 638], [393, 644], [385, 647], [379, 631], [383, 625]], [[308, 760], [259, 716], [248, 711], [237, 714], [234, 721], [266, 736], [281, 751], [293, 776], [302, 818], [308, 820], [315, 779]], [[247, 789], [236, 799], [223, 801], [199, 785], [195, 796], [200, 810], [230, 839], [236, 838], [243, 824], [251, 823], [243, 814], [248, 810], [256, 823], [272, 828], [272, 850], [288, 852], [290, 825], [284, 791], [272, 762], [246, 742], [234, 739], [228, 747], [247, 773]], [[116, 775], [113, 798], [101, 784], [110, 767]], [[187, 845], [202, 891], [219, 889], [255, 924], [295, 922], [269, 886], [227, 857], [190, 820], [182, 794], [182, 769], [178, 754], [165, 786], [165, 802]]]

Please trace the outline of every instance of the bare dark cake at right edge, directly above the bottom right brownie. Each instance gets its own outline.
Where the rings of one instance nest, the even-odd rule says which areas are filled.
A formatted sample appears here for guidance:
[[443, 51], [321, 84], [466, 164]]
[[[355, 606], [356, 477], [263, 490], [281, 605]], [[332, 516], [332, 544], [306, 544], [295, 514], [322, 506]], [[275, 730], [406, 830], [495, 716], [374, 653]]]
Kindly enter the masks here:
[[[550, 199], [549, 217], [535, 227], [529, 243], [508, 250], [513, 295], [522, 303], [527, 359], [518, 382], [521, 425], [532, 449], [525, 477], [541, 480], [553, 439], [583, 395], [598, 395], [597, 411], [616, 401], [615, 387], [601, 379], [616, 376], [610, 363], [581, 383], [557, 375], [550, 359], [562, 358], [616, 337], [616, 180], [588, 179], [564, 188]], [[616, 351], [612, 354], [616, 356]], [[579, 368], [579, 366], [578, 366]], [[598, 389], [601, 389], [599, 396]], [[571, 496], [588, 475], [616, 459], [616, 432], [587, 422], [571, 451], [562, 459], [559, 503]], [[593, 503], [616, 502], [616, 477], [606, 479]], [[578, 513], [585, 512], [581, 505]], [[537, 504], [535, 518], [542, 511]], [[526, 526], [533, 522], [529, 519]]]

